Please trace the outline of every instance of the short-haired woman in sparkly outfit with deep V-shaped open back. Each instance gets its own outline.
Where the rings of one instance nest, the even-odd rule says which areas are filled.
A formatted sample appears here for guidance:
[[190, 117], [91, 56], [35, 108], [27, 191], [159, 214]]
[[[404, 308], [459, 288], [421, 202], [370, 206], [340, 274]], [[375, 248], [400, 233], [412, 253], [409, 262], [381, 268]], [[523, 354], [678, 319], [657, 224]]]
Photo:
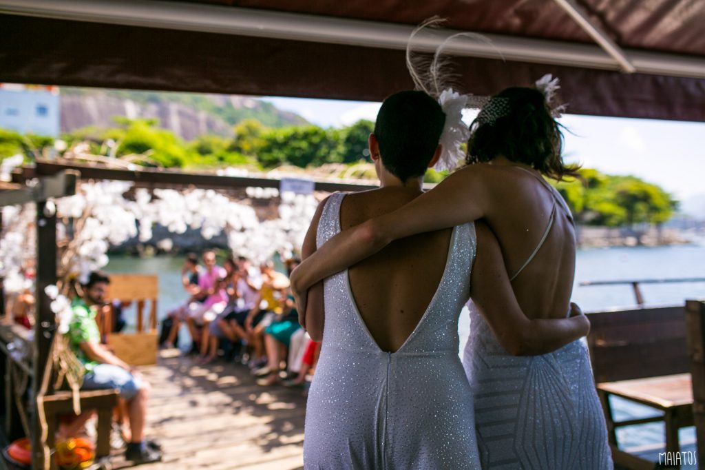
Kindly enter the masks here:
[[[441, 151], [443, 121], [439, 104], [422, 92], [389, 97], [369, 143], [382, 187], [321, 203], [303, 255], [341, 228], [421, 195], [425, 169]], [[510, 342], [556, 349], [587, 333], [584, 318], [531, 324], [491, 232], [478, 230], [480, 263], [494, 265], [482, 273], [492, 280], [484, 295], [496, 299], [489, 311], [525, 320], [524, 335]], [[305, 468], [480, 468], [472, 391], [458, 357], [458, 315], [470, 295], [475, 240], [474, 224], [462, 224], [396, 241], [312, 289], [305, 323], [323, 344], [307, 404]]]

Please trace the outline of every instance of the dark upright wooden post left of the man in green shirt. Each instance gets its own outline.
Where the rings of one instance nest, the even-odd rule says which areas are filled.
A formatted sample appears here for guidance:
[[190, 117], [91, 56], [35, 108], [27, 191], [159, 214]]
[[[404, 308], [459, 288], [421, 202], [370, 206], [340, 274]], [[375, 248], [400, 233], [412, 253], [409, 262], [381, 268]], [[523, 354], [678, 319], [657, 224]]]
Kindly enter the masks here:
[[32, 468], [44, 468], [42, 435], [37, 415], [37, 392], [42, 386], [44, 367], [50, 361], [49, 349], [56, 330], [51, 299], [44, 294], [50, 284], [56, 284], [56, 214], [49, 213], [46, 201], [37, 203], [37, 279], [35, 295], [35, 360], [32, 382]]

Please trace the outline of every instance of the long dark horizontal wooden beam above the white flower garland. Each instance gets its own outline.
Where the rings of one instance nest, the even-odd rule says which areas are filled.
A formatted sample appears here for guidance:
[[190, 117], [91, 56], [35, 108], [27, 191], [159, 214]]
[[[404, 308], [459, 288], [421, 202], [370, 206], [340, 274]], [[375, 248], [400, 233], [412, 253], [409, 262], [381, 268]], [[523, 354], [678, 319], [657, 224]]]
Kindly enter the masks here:
[[[81, 179], [112, 179], [118, 181], [134, 181], [137, 186], [195, 186], [197, 188], [213, 189], [234, 189], [234, 188], [279, 188], [280, 179], [259, 178], [250, 176], [219, 176], [205, 173], [184, 173], [168, 169], [140, 169], [130, 171], [125, 169], [110, 169], [104, 167], [94, 167], [88, 164], [59, 164], [47, 160], [37, 160], [37, 166], [33, 169], [24, 168], [18, 174], [19, 179], [27, 179], [35, 176], [51, 176], [60, 171], [79, 171]], [[302, 175], [305, 177], [305, 175]], [[354, 184], [338, 183], [334, 181], [316, 181], [315, 191], [367, 191], [368, 189], [379, 188], [372, 183]], [[1, 193], [0, 193], [1, 195]], [[0, 200], [1, 201], [1, 200]]]

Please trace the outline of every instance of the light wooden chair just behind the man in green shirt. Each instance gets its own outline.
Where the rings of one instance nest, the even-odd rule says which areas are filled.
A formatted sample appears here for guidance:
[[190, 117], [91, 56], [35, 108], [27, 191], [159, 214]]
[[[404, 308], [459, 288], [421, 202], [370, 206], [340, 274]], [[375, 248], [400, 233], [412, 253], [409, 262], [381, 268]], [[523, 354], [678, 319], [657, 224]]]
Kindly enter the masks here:
[[[157, 363], [157, 298], [159, 276], [155, 275], [110, 275], [110, 299], [136, 302], [137, 318], [135, 333], [112, 333], [111, 315], [102, 321], [102, 336], [116, 356], [131, 366], [146, 366]], [[145, 323], [144, 313], [149, 301], [149, 318]]]

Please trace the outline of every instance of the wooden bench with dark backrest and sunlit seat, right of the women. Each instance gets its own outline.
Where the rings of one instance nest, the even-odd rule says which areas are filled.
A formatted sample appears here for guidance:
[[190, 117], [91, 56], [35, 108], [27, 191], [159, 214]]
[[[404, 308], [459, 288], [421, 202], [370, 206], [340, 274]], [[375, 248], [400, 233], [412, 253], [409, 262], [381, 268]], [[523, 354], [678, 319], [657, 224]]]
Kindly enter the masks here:
[[[663, 421], [666, 452], [679, 452], [678, 430], [693, 425], [690, 361], [682, 307], [643, 308], [589, 315], [588, 346], [615, 464], [653, 469], [620, 450], [616, 428]], [[662, 411], [662, 416], [615, 421], [610, 397]]]

